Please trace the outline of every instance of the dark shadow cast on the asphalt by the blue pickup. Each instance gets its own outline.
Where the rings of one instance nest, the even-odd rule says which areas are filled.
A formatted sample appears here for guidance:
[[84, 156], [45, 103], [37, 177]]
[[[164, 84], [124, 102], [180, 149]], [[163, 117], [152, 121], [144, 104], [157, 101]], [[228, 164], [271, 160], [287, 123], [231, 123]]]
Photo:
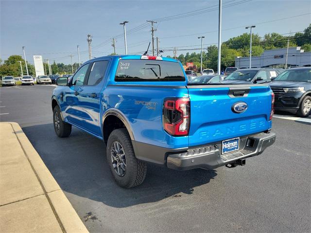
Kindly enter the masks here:
[[123, 189], [113, 181], [103, 141], [75, 127], [68, 138], [59, 138], [52, 123], [23, 131], [64, 191], [117, 208], [191, 195], [194, 187], [217, 176], [215, 170], [175, 171], [148, 164], [144, 183]]

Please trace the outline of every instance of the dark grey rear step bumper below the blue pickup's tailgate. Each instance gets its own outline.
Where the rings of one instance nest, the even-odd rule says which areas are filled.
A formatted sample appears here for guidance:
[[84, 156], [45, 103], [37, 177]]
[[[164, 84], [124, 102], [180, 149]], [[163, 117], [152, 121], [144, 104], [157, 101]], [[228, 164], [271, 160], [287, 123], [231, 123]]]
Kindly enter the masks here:
[[[258, 133], [241, 138], [242, 150], [221, 154], [221, 143], [207, 145], [206, 147], [190, 149], [190, 153], [170, 154], [167, 157], [167, 167], [176, 170], [193, 168], [216, 168], [232, 164], [237, 160], [261, 154], [267, 147], [276, 141], [275, 133]], [[216, 146], [217, 145], [217, 146]], [[212, 146], [212, 148], [211, 148]], [[211, 148], [209, 152], [200, 152], [203, 148]], [[205, 149], [206, 151], [207, 149]], [[194, 153], [192, 152], [194, 151]], [[191, 155], [193, 153], [193, 155]], [[189, 155], [190, 154], [190, 155]]]

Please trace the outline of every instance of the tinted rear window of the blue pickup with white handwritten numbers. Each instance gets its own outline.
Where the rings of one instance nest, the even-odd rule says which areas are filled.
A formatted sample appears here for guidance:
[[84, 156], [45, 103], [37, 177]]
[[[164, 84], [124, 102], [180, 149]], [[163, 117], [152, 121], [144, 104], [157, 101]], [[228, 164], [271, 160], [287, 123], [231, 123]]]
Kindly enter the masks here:
[[185, 81], [179, 63], [158, 60], [120, 60], [116, 82]]

